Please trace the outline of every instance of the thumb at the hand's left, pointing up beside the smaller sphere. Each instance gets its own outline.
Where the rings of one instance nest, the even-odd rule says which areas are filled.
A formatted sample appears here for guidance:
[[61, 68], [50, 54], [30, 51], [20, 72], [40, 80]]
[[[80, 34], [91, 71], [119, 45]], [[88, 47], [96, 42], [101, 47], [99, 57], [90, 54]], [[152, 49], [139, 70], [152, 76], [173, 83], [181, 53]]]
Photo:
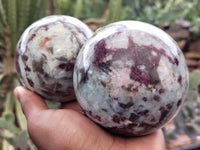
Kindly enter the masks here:
[[27, 119], [36, 112], [48, 109], [46, 103], [38, 95], [24, 87], [15, 88], [14, 95], [21, 103], [22, 110]]

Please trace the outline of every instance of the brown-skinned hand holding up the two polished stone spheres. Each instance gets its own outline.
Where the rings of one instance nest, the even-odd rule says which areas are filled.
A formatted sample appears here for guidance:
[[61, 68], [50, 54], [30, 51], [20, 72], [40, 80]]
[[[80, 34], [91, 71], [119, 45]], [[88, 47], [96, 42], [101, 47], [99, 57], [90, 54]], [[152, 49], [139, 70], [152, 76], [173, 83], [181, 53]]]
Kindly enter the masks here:
[[49, 109], [43, 99], [24, 87], [14, 90], [27, 119], [30, 138], [39, 150], [164, 150], [161, 130], [124, 138], [112, 135], [88, 119], [76, 101]]

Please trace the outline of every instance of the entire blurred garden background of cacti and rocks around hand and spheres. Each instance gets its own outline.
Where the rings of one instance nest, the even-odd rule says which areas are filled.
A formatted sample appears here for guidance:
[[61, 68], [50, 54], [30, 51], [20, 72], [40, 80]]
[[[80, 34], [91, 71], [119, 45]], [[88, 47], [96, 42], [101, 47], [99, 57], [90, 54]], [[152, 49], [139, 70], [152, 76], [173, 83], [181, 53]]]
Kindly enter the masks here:
[[163, 128], [166, 146], [200, 149], [200, 0], [0, 0], [0, 150], [36, 150], [13, 95], [20, 84], [14, 55], [26, 27], [52, 14], [79, 18], [94, 31], [119, 20], [140, 20], [169, 33], [185, 55], [190, 88], [180, 113]]

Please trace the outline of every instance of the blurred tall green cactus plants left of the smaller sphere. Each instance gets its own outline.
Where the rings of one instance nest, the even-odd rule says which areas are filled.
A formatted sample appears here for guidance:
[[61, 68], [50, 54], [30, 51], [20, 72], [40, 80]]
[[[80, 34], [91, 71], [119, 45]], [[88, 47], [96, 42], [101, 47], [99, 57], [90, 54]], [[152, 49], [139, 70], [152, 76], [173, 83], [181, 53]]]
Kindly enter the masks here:
[[15, 72], [15, 48], [24, 29], [47, 15], [48, 0], [0, 0], [0, 136], [2, 150], [34, 149], [26, 120], [13, 95], [19, 85]]

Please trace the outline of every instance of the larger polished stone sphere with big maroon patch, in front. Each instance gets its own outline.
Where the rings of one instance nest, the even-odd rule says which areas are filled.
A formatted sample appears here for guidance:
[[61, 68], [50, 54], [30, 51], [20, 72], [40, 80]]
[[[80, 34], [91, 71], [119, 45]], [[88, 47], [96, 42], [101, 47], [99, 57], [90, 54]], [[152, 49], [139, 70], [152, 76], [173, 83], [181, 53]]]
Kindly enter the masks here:
[[122, 21], [100, 29], [80, 51], [74, 88], [86, 115], [110, 132], [154, 132], [180, 110], [188, 90], [184, 56], [164, 31]]

